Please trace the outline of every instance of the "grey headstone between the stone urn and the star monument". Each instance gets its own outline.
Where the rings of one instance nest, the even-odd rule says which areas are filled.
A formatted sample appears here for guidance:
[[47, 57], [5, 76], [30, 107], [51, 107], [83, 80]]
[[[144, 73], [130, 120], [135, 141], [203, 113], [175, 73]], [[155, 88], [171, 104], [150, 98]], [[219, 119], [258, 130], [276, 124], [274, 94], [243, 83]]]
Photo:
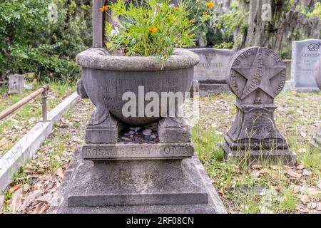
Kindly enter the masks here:
[[200, 63], [194, 68], [194, 79], [199, 83], [200, 95], [228, 91], [225, 71], [228, 61], [235, 52], [215, 48], [190, 48], [189, 50], [200, 57]]

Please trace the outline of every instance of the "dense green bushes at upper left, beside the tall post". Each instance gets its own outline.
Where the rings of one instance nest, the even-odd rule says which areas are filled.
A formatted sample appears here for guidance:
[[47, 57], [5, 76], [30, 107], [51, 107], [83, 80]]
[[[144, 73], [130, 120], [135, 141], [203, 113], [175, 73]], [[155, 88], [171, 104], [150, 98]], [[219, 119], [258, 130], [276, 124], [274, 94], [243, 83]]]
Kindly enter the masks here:
[[90, 6], [81, 0], [0, 0], [0, 9], [1, 78], [34, 72], [39, 80], [70, 81], [79, 75], [73, 59], [90, 45]]

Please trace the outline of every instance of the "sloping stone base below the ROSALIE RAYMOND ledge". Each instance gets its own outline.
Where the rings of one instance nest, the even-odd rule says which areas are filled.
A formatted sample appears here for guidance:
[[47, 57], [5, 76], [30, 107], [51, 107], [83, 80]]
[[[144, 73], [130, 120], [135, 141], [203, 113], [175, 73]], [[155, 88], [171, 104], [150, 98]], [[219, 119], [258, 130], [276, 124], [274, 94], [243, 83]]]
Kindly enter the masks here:
[[[144, 164], [144, 169], [151, 171], [150, 168], [152, 167], [152, 165], [148, 164], [148, 162], [151, 161], [146, 162], [147, 163]], [[154, 167], [155, 176], [153, 176], [153, 172], [147, 172], [149, 175], [151, 175], [151, 180], [153, 179], [153, 181], [144, 182], [144, 185], [142, 185], [141, 180], [139, 182], [135, 181], [136, 177], [138, 177], [138, 179], [141, 178], [139, 177], [139, 174], [142, 176], [146, 176], [144, 175], [145, 172], [139, 172], [139, 170], [137, 171], [138, 176], [136, 176], [135, 178], [133, 178], [133, 175], [128, 173], [128, 178], [125, 178], [123, 180], [118, 179], [118, 175], [124, 175], [128, 170], [133, 171], [132, 168], [137, 167], [137, 164], [129, 165], [129, 167], [131, 168], [124, 167], [124, 170], [114, 170], [114, 172], [110, 173], [109, 176], [107, 176], [107, 172], [110, 172], [113, 169], [112, 166], [109, 167], [106, 173], [99, 173], [99, 167], [94, 172], [88, 172], [93, 169], [93, 163], [90, 161], [83, 161], [81, 159], [80, 150], [77, 150], [75, 156], [73, 157], [73, 160], [71, 161], [71, 164], [68, 167], [68, 170], [66, 170], [66, 175], [63, 178], [61, 187], [58, 188], [58, 191], [56, 192], [56, 195], [52, 200], [49, 213], [226, 213], [223, 204], [220, 201], [218, 194], [213, 189], [213, 185], [206, 175], [205, 170], [203, 169], [203, 165], [201, 165], [198, 157], [183, 160], [180, 169], [177, 169], [177, 162], [168, 160], [166, 160], [166, 162], [167, 165], [164, 166], [164, 170], [159, 169], [159, 167]], [[170, 170], [173, 171], [168, 170], [169, 167]], [[168, 177], [164, 177], [165, 172], [168, 172]], [[90, 173], [93, 176], [90, 176]], [[175, 175], [181, 174], [183, 174], [183, 179], [181, 179], [183, 180], [183, 182], [176, 182], [175, 179], [177, 179], [177, 176]], [[101, 178], [102, 175], [106, 175], [106, 178], [101, 182], [95, 182], [96, 177]], [[163, 177], [160, 177], [160, 175], [163, 175]], [[89, 180], [93, 180], [93, 182], [90, 181], [91, 183], [88, 183], [89, 185], [86, 188], [81, 186], [77, 187], [75, 185], [76, 182], [86, 183], [86, 181], [88, 181], [88, 178]], [[111, 180], [113, 180], [113, 182], [111, 182]], [[166, 180], [167, 182], [163, 182], [164, 180]], [[120, 189], [121, 185], [123, 185], [122, 190]], [[174, 187], [174, 185], [176, 185], [176, 187]], [[130, 200], [131, 205], [127, 205], [128, 201], [126, 202], [126, 199], [123, 198], [119, 200], [117, 199], [117, 197], [113, 197], [112, 201], [111, 198], [108, 199], [108, 197], [92, 197], [88, 199], [85, 198], [83, 200], [78, 200], [79, 198], [71, 198], [71, 195], [77, 196], [78, 194], [78, 196], [91, 196], [92, 194], [97, 195], [97, 192], [99, 192], [100, 195], [111, 196], [112, 191], [114, 196], [119, 195], [120, 192], [117, 191], [136, 191], [139, 192], [140, 195], [149, 195], [149, 198], [147, 197], [145, 199], [142, 199], [136, 197], [137, 195], [128, 195], [130, 196], [128, 200]], [[161, 197], [155, 197], [155, 195], [151, 197], [151, 195], [153, 195], [153, 192], [158, 192]], [[186, 194], [189, 192], [190, 194], [187, 194], [184, 197], [182, 197], [182, 195], [177, 197], [177, 195], [168, 194], [170, 192], [180, 192], [180, 194]], [[105, 204], [107, 200], [108, 202], [112, 202], [112, 204], [118, 205], [84, 207], [86, 206], [86, 202], [89, 202], [93, 205], [97, 203], [98, 199], [101, 199], [103, 204]], [[163, 203], [164, 199], [165, 201], [167, 200], [166, 203], [171, 201], [173, 204]], [[96, 202], [91, 202], [92, 200]], [[74, 204], [76, 202], [77, 204]], [[98, 200], [98, 202], [101, 201]], [[144, 204], [144, 202], [146, 204]], [[187, 202], [190, 202], [191, 204], [186, 204]], [[71, 207], [72, 205], [77, 207]]]

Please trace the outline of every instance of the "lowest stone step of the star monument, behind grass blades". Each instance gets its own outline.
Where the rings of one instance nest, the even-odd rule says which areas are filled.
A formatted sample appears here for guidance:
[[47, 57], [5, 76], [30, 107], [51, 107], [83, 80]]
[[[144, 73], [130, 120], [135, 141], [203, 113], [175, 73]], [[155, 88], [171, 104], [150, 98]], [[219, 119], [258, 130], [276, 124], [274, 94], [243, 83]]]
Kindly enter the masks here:
[[226, 142], [222, 145], [225, 161], [236, 160], [249, 164], [295, 165], [297, 155], [290, 150], [232, 150]]

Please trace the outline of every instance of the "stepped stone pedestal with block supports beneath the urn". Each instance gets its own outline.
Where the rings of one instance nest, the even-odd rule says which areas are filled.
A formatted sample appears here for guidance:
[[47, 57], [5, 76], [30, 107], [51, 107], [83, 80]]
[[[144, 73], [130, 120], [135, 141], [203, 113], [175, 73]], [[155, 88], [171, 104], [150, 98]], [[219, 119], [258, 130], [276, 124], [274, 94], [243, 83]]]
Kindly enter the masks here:
[[183, 118], [161, 119], [157, 143], [123, 142], [118, 128], [110, 115], [88, 125], [51, 212], [225, 212]]

